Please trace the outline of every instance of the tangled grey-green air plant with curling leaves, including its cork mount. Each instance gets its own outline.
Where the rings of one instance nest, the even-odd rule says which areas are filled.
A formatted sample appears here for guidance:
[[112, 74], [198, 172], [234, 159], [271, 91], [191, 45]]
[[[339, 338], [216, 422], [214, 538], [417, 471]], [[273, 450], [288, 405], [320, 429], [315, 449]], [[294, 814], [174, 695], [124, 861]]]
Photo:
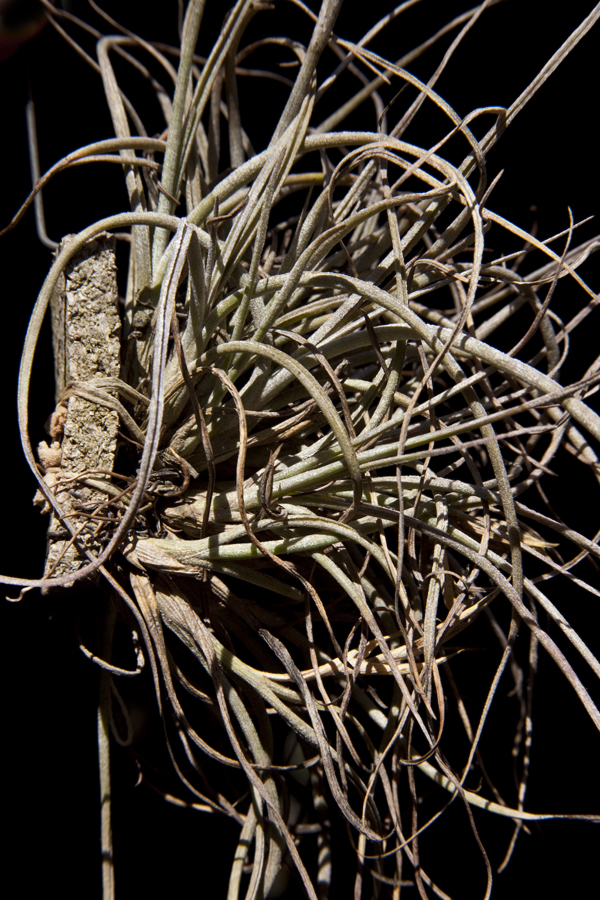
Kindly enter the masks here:
[[[596, 303], [578, 268], [599, 242], [577, 246], [574, 221], [541, 240], [496, 214], [486, 155], [600, 6], [508, 109], [460, 117], [436, 83], [493, 4], [392, 61], [369, 45], [413, 3], [358, 41], [335, 31], [342, 0], [315, 12], [294, 3], [313, 23], [306, 46], [269, 36], [261, 0], [224, 13], [206, 58], [196, 55], [203, 0], [182, 11], [179, 47], [109, 17], [114, 33], [93, 34], [88, 59], [116, 136], [60, 160], [23, 211], [63, 170], [103, 161], [122, 165], [130, 209], [63, 239], [34, 307], [19, 421], [36, 502], [51, 516], [48, 554], [43, 577], [2, 581], [43, 591], [102, 582], [107, 592], [98, 640], [84, 647], [102, 667], [106, 898], [111, 733], [135, 752], [119, 685], [144, 666], [181, 793], [143, 761], [141, 777], [167, 800], [237, 823], [228, 900], [280, 891], [290, 871], [306, 896], [328, 896], [337, 832], [355, 860], [355, 898], [398, 898], [404, 885], [445, 897], [419, 840], [443, 831], [451, 804], [473, 828], [487, 897], [472, 810], [513, 820], [508, 857], [525, 823], [561, 817], [525, 808], [538, 648], [600, 730], [582, 680], [587, 669], [600, 677], [600, 663], [545, 593], [562, 578], [598, 596], [572, 569], [600, 549], [540, 502], [567, 451], [600, 480], [600, 417], [585, 402], [600, 374], [590, 359], [582, 378], [561, 382], [569, 335]], [[44, 5], [85, 54], [78, 29], [90, 26]], [[248, 43], [255, 17], [266, 36]], [[407, 67], [438, 41], [446, 49], [424, 83]], [[118, 57], [119, 72], [135, 67], [156, 93], [156, 137], [126, 74], [117, 79]], [[258, 151], [238, 91], [253, 76], [288, 88]], [[324, 113], [333, 90], [344, 100]], [[446, 122], [439, 138], [408, 141], [433, 107]], [[358, 113], [364, 128], [347, 128]], [[486, 240], [502, 230], [522, 246], [498, 257]], [[129, 249], [122, 303], [116, 241]], [[545, 262], [523, 272], [532, 251]], [[566, 322], [552, 308], [561, 289], [583, 300]], [[36, 453], [28, 393], [49, 307], [56, 409]], [[512, 342], [497, 346], [509, 319]], [[476, 620], [501, 649], [473, 720], [452, 672]], [[115, 643], [125, 626], [131, 657]], [[512, 652], [519, 632], [524, 672]], [[479, 750], [507, 667], [521, 710], [512, 803]], [[468, 739], [452, 762], [450, 709]], [[423, 817], [427, 780], [437, 808]]]

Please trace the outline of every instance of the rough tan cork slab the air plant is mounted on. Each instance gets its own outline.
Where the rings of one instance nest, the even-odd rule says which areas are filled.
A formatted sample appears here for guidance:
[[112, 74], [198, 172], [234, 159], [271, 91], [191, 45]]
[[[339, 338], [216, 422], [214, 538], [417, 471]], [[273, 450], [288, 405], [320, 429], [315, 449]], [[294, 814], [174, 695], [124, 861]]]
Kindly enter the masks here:
[[[61, 243], [62, 249], [72, 237]], [[115, 238], [99, 235], [88, 241], [71, 260], [57, 283], [52, 298], [52, 342], [57, 409], [52, 417], [52, 448], [40, 446], [43, 457], [59, 465], [46, 466], [46, 481], [75, 528], [82, 526], [85, 546], [98, 552], [95, 531], [99, 522], [81, 515], [92, 513], [107, 499], [101, 491], [86, 487], [75, 474], [90, 470], [113, 470], [119, 419], [114, 410], [80, 397], [63, 400], [73, 382], [114, 378], [120, 371], [120, 329], [118, 310]], [[60, 442], [62, 432], [62, 442]], [[58, 440], [57, 440], [58, 439]], [[60, 442], [60, 453], [59, 450]], [[50, 453], [48, 453], [50, 449]], [[54, 451], [54, 456], [52, 455]], [[96, 474], [96, 480], [102, 476]], [[79, 513], [79, 514], [78, 514]], [[106, 509], [102, 510], [106, 515]], [[52, 513], [48, 529], [45, 575], [74, 572], [88, 560], [83, 552], [62, 539], [65, 529]]]

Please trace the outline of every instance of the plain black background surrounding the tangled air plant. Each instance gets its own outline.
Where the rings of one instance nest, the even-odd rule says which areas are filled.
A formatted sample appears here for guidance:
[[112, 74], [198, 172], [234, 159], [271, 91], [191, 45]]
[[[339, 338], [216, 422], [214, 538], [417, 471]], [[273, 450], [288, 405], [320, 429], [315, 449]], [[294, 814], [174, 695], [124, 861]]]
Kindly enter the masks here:
[[[314, 7], [315, 0], [309, 5]], [[215, 0], [207, 0], [207, 7], [199, 44], [201, 53], [210, 46], [227, 8]], [[392, 24], [386, 35], [375, 41], [373, 49], [397, 59], [465, 7], [466, 4], [424, 2]], [[438, 83], [439, 93], [461, 115], [477, 106], [509, 105], [592, 7], [591, 0], [560, 6], [536, 0], [499, 4], [487, 11], [465, 40]], [[70, 8], [91, 21], [83, 2]], [[144, 37], [176, 42], [175, 2], [162, 5], [161, 20], [153, 18], [145, 4], [110, 3], [105, 8]], [[391, 8], [389, 2], [361, 3], [358, 13], [357, 4], [346, 3], [336, 33], [357, 40]], [[552, 10], [559, 9], [560, 15], [554, 15]], [[291, 33], [290, 28], [297, 22], [299, 39], [307, 40], [305, 20], [291, 4], [279, 0], [277, 9], [263, 17], [266, 15], [272, 17], [272, 26], [268, 29], [263, 25], [265, 32]], [[110, 29], [104, 26], [103, 30], [106, 33]], [[505, 170], [490, 206], [525, 229], [537, 219], [539, 235], [543, 237], [568, 226], [569, 206], [576, 221], [598, 209], [594, 98], [599, 33], [596, 27], [583, 39], [488, 159], [492, 175]], [[412, 68], [426, 80], [439, 58], [440, 50], [433, 50]], [[331, 65], [331, 58], [325, 57], [323, 71]], [[99, 77], [50, 27], [11, 59], [0, 63], [2, 225], [30, 187], [24, 112], [28, 79], [37, 106], [42, 171], [70, 150], [113, 134]], [[133, 90], [128, 88], [129, 93]], [[255, 149], [261, 150], [265, 144], [261, 129], [269, 122], [269, 103], [277, 100], [278, 88], [270, 82], [254, 82], [250, 87], [244, 86], [243, 91], [251, 110], [250, 136]], [[142, 100], [137, 105], [148, 133], [158, 131], [162, 123], [155, 101], [149, 99], [145, 106]], [[395, 118], [390, 114], [391, 121]], [[435, 116], [428, 120], [422, 113], [407, 139], [427, 146], [428, 141], [443, 133], [436, 131], [436, 121]], [[374, 124], [369, 121], [361, 127], [373, 128]], [[66, 173], [45, 192], [45, 205], [48, 232], [55, 240], [101, 216], [126, 209], [120, 169], [114, 166], [106, 172], [86, 167], [85, 172]], [[532, 210], [534, 207], [537, 211]], [[594, 233], [593, 222], [580, 230], [581, 239]], [[500, 236], [494, 249], [504, 250], [504, 240]], [[506, 249], [512, 249], [510, 242]], [[0, 241], [0, 259], [4, 450], [0, 571], [35, 577], [42, 569], [46, 521], [31, 506], [35, 485], [19, 445], [16, 374], [27, 319], [49, 267], [50, 251], [37, 241], [31, 212]], [[585, 264], [582, 274], [592, 287], [598, 285], [595, 258]], [[565, 279], [556, 303], [565, 314], [572, 314], [582, 305], [583, 294]], [[565, 381], [581, 377], [598, 353], [597, 316], [598, 313], [588, 319], [584, 334], [574, 341], [571, 362], [563, 372]], [[53, 407], [49, 333], [45, 339], [46, 346], [34, 369], [31, 421], [36, 442], [45, 436], [43, 422]], [[595, 408], [597, 399], [595, 395], [590, 401]], [[595, 496], [593, 478], [585, 471], [578, 472], [576, 494], [567, 481], [568, 468], [562, 473], [560, 467], [556, 471], [558, 478], [553, 481], [552, 491], [560, 511], [569, 521], [575, 516], [581, 521], [583, 517], [586, 527], [581, 526], [582, 529], [593, 534], [597, 504], [592, 499], [589, 503], [581, 500], [582, 496]], [[6, 593], [14, 597], [18, 589], [10, 588]], [[592, 649], [597, 646], [597, 598], [580, 595], [570, 588], [558, 589], [552, 597]], [[49, 598], [32, 591], [18, 604], [2, 601], [0, 605], [4, 725], [1, 771], [3, 819], [8, 829], [3, 841], [4, 873], [7, 882], [18, 885], [12, 892], [16, 896], [34, 896], [46, 890], [60, 891], [65, 897], [100, 896], [95, 760], [97, 674], [79, 652], [74, 629], [78, 613], [93, 602], [93, 598], [76, 591]], [[579, 666], [582, 670], [583, 666]], [[584, 680], [593, 690], [591, 678], [585, 675]], [[481, 697], [486, 684], [471, 686], [474, 699]], [[507, 690], [508, 682], [505, 693]], [[595, 696], [598, 697], [597, 689]], [[497, 748], [499, 757], [504, 754], [508, 776], [498, 777], [505, 777], [506, 784], [510, 784], [510, 735], [503, 732], [502, 720], [498, 725], [490, 724], [486, 734], [487, 746]], [[575, 695], [563, 684], [553, 665], [543, 659], [527, 808], [599, 813], [597, 748], [598, 734]], [[498, 764], [499, 772], [501, 768]], [[136, 788], [136, 771], [125, 753], [115, 753], [114, 779], [118, 896], [131, 896], [134, 891], [147, 896], [161, 896], [167, 890], [172, 894], [202, 891], [212, 883], [211, 896], [224, 897], [235, 830], [212, 817], [168, 806], [143, 784]], [[430, 855], [424, 859], [424, 865], [438, 876], [451, 896], [483, 896], [483, 865], [464, 824], [464, 813], [458, 804], [455, 806], [448, 822], [451, 827], [439, 829], [435, 841], [427, 845]], [[477, 824], [490, 848], [492, 863], [497, 865], [501, 851], [495, 848], [494, 841], [498, 839], [502, 848], [506, 845], [511, 823], [490, 823], [479, 814]], [[552, 822], [533, 825], [531, 832], [521, 837], [511, 866], [496, 879], [495, 897], [525, 897], [534, 892], [558, 897], [590, 889], [597, 871], [595, 826]], [[434, 858], [437, 862], [432, 861]], [[340, 870], [350, 872], [352, 866], [345, 867], [343, 860], [340, 862]], [[444, 867], [446, 874], [440, 877]], [[346, 881], [339, 881], [336, 887], [338, 896], [351, 896]]]

